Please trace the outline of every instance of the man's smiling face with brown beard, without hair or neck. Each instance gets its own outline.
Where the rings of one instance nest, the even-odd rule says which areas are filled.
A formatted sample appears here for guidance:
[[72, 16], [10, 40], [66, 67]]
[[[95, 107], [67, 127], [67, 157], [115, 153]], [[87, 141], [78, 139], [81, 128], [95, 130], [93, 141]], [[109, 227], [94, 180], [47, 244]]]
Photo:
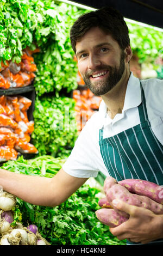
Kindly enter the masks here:
[[121, 80], [125, 54], [111, 35], [91, 28], [76, 49], [79, 72], [93, 94], [104, 95]]

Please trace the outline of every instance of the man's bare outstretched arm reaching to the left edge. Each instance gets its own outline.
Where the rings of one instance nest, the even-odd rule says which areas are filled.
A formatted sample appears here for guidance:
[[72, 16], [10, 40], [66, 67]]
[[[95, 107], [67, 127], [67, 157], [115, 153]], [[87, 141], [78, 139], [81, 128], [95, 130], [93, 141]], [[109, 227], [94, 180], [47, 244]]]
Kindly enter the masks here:
[[0, 169], [0, 186], [3, 190], [35, 205], [59, 205], [86, 180], [87, 178], [73, 177], [62, 168], [53, 178], [17, 174]]

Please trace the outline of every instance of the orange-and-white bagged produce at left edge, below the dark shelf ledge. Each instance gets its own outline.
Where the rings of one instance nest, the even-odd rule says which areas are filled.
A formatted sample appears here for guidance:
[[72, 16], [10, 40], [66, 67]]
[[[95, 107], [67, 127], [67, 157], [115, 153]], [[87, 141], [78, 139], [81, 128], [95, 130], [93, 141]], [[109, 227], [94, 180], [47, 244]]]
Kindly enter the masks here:
[[0, 162], [16, 160], [21, 154], [37, 154], [30, 143], [34, 121], [28, 119], [32, 101], [21, 95], [0, 96]]

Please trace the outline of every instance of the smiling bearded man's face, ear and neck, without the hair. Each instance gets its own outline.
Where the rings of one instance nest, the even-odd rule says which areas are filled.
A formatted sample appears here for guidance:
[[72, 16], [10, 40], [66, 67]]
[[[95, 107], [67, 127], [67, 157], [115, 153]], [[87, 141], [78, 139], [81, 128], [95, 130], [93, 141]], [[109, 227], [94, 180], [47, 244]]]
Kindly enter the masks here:
[[[123, 50], [110, 34], [99, 27], [92, 27], [77, 41], [76, 55], [86, 86], [93, 94], [101, 95], [108, 102], [110, 117], [121, 113], [130, 76], [130, 45]], [[114, 102], [109, 100], [113, 95], [117, 98]], [[114, 103], [115, 107], [109, 102]]]

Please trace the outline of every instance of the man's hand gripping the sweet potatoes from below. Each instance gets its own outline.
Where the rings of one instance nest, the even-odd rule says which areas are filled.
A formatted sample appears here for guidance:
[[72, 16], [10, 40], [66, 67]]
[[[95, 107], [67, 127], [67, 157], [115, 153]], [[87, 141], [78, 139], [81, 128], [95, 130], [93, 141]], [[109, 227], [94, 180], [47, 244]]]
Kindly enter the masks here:
[[163, 215], [155, 215], [145, 208], [129, 205], [122, 200], [113, 200], [114, 206], [127, 212], [129, 220], [116, 228], [110, 228], [112, 235], [119, 240], [148, 243], [163, 238]]

